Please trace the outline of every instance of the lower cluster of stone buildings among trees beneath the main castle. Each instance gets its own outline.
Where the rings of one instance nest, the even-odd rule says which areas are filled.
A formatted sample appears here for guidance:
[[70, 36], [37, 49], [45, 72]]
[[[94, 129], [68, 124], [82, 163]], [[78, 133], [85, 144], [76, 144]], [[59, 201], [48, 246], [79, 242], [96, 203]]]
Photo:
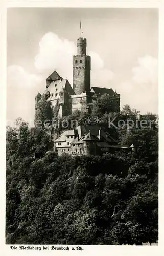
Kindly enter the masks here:
[[98, 125], [80, 125], [76, 129], [63, 132], [54, 141], [54, 147], [58, 154], [63, 153], [72, 156], [81, 155], [101, 155], [105, 152], [125, 150], [134, 151], [134, 145], [118, 145], [112, 136], [107, 135]]

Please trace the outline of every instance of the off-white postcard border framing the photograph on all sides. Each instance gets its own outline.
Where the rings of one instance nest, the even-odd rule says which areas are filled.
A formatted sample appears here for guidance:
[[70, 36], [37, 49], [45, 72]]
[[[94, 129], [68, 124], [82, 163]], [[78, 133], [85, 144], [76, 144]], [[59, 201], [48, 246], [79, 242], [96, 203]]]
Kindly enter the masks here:
[[[162, 157], [164, 156], [164, 137], [163, 127], [164, 122], [164, 4], [163, 1], [139, 1], [139, 0], [127, 0], [127, 1], [1, 1], [1, 58], [0, 58], [0, 163], [1, 163], [1, 253], [2, 255], [39, 255], [51, 254], [51, 255], [162, 255], [164, 252], [164, 164]], [[10, 250], [10, 246], [5, 244], [5, 140], [6, 140], [6, 8], [10, 7], [78, 7], [78, 8], [159, 8], [159, 244], [158, 246], [110, 246], [110, 245], [88, 245], [82, 246], [83, 251], [22, 251], [22, 250]], [[151, 103], [151, 102], [150, 102]], [[36, 245], [35, 245], [36, 246]], [[41, 245], [38, 245], [41, 246]], [[50, 247], [51, 245], [49, 245]], [[61, 245], [60, 245], [61, 246]], [[65, 245], [63, 245], [65, 246]], [[71, 245], [69, 245], [71, 248]]]

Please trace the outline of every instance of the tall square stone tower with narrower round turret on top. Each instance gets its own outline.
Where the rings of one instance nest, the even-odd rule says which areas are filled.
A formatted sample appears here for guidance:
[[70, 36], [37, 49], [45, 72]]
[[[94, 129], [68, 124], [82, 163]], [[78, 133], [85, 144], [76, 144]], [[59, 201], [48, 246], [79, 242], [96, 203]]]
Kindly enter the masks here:
[[77, 39], [77, 55], [73, 56], [73, 89], [76, 94], [90, 91], [90, 56], [86, 55], [86, 38]]

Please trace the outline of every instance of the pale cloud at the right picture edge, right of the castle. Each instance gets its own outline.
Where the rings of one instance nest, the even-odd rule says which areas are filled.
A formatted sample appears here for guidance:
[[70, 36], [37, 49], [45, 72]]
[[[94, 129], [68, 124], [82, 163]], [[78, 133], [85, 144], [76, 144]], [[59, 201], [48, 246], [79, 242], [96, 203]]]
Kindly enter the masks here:
[[158, 60], [145, 55], [132, 68], [132, 78], [118, 85], [121, 105], [129, 104], [142, 114], [158, 113]]

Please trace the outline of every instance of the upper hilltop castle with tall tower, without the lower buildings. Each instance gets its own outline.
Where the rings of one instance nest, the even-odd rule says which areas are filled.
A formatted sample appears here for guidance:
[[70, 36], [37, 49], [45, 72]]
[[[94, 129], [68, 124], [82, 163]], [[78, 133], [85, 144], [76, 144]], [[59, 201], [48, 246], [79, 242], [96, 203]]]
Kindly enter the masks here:
[[59, 116], [67, 116], [75, 110], [91, 112], [93, 104], [103, 94], [110, 96], [110, 111], [120, 111], [120, 94], [113, 89], [102, 87], [90, 88], [91, 58], [86, 54], [86, 38], [77, 39], [77, 55], [73, 55], [73, 88], [67, 79], [54, 71], [46, 79], [46, 89], [35, 96], [35, 109], [44, 97], [55, 106], [59, 102]]

